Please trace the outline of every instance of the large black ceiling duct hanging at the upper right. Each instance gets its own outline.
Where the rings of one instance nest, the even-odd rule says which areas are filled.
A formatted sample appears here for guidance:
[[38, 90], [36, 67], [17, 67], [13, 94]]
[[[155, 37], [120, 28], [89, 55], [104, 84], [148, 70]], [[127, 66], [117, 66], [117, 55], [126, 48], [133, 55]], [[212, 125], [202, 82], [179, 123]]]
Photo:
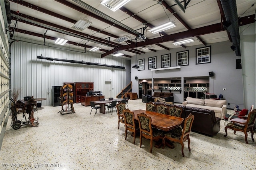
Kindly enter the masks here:
[[221, 0], [221, 4], [226, 18], [226, 22], [223, 23], [223, 26], [228, 32], [230, 32], [231, 40], [233, 43], [231, 49], [236, 52], [236, 56], [241, 56], [236, 1]]

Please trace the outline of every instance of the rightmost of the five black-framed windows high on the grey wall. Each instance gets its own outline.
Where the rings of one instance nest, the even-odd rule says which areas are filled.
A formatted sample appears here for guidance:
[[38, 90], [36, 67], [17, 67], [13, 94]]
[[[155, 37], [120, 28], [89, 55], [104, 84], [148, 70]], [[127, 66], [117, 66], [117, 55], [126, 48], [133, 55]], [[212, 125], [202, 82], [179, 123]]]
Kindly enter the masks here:
[[211, 46], [196, 49], [196, 64], [211, 62]]

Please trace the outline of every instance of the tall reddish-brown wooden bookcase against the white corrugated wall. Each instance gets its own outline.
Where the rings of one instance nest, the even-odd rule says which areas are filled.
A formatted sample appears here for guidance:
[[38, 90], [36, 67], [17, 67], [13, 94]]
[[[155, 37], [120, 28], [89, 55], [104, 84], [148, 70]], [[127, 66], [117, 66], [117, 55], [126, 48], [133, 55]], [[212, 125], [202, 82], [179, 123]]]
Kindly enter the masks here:
[[87, 92], [93, 91], [92, 82], [75, 82], [74, 83], [74, 102], [81, 103], [81, 97], [86, 96]]

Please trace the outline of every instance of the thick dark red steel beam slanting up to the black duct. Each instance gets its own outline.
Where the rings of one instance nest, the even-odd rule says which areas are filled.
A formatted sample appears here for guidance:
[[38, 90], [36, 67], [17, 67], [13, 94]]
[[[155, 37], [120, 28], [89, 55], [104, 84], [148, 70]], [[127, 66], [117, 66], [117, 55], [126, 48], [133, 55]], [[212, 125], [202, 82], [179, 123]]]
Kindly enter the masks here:
[[[161, 43], [161, 42], [170, 42], [170, 41], [179, 40], [182, 38], [189, 38], [189, 37], [193, 37], [193, 36], [211, 34], [211, 33], [220, 32], [220, 31], [224, 31], [224, 28], [222, 28], [221, 23], [217, 23], [217, 24], [212, 24], [209, 26], [195, 28], [192, 30], [184, 31], [184, 32], [171, 34], [171, 35], [164, 36], [164, 37], [154, 38], [151, 40], [145, 40], [144, 42], [138, 42], [137, 47], [141, 47], [141, 46], [145, 46], [145, 45], [152, 45], [152, 44]], [[129, 49], [130, 47], [135, 47], [135, 44], [130, 44], [129, 46], [124, 45], [124, 46], [120, 47], [119, 50]], [[116, 52], [116, 49], [112, 49], [112, 50], [102, 54], [101, 57], [105, 57], [114, 52]]]

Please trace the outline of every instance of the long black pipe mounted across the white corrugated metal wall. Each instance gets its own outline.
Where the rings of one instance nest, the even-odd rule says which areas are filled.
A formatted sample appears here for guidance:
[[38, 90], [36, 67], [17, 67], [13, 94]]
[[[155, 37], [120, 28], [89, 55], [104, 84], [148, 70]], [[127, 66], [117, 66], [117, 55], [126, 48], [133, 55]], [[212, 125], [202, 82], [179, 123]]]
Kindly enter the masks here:
[[58, 58], [50, 58], [50, 57], [42, 57], [42, 56], [37, 56], [37, 58], [38, 59], [46, 59], [48, 61], [64, 61], [64, 62], [68, 62], [68, 63], [78, 63], [78, 64], [86, 64], [86, 65], [97, 65], [97, 66], [102, 66], [102, 67], [111, 67], [111, 68], [117, 68], [117, 69], [125, 69], [125, 67], [122, 67], [122, 66], [99, 64], [99, 63], [90, 63], [90, 62], [85, 62], [85, 61], [58, 59]]

